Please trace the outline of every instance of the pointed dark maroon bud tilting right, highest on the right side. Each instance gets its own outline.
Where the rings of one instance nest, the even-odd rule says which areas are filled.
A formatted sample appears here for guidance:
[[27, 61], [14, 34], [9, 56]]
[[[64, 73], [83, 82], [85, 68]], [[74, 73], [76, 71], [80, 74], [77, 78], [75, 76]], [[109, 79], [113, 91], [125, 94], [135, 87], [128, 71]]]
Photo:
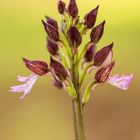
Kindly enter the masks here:
[[97, 17], [97, 13], [98, 13], [98, 8], [99, 5], [93, 9], [92, 11], [90, 11], [85, 17], [84, 17], [84, 25], [87, 26], [87, 28], [92, 28], [96, 22], [96, 17]]

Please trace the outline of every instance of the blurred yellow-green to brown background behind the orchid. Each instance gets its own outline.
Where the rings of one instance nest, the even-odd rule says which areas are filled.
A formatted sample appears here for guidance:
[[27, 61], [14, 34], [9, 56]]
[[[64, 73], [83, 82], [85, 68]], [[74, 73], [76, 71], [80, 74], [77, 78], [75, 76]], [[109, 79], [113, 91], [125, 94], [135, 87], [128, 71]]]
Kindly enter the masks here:
[[[97, 24], [105, 19], [106, 28], [98, 48], [114, 41], [113, 73], [134, 74], [127, 91], [96, 88], [86, 106], [87, 140], [140, 140], [140, 1], [77, 3], [81, 17], [100, 5]], [[0, 140], [74, 139], [71, 99], [53, 87], [49, 76], [40, 78], [24, 100], [9, 92], [19, 84], [17, 75], [30, 74], [21, 57], [49, 60], [41, 24], [45, 15], [60, 21], [57, 0], [0, 1]]]

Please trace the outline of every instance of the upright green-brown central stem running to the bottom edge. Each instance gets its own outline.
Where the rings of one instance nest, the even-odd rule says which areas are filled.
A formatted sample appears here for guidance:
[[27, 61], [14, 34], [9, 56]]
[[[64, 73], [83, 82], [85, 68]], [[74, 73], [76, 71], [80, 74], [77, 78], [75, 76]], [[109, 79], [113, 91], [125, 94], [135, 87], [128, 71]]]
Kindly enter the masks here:
[[79, 92], [79, 67], [78, 67], [79, 63], [74, 62], [74, 57], [76, 56], [73, 56], [72, 59], [71, 74], [72, 74], [72, 82], [77, 94], [77, 98], [72, 100], [74, 126], [75, 126], [75, 140], [85, 140], [84, 125], [83, 125], [83, 110]]

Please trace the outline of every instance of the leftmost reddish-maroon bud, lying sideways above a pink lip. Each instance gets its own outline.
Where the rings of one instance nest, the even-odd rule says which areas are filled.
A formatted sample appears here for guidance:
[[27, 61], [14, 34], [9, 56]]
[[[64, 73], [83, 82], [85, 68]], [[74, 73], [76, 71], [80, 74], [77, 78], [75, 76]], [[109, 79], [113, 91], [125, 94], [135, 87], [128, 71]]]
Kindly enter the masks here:
[[23, 58], [23, 62], [29, 70], [37, 75], [42, 76], [49, 71], [48, 64], [44, 61], [30, 61], [26, 58]]

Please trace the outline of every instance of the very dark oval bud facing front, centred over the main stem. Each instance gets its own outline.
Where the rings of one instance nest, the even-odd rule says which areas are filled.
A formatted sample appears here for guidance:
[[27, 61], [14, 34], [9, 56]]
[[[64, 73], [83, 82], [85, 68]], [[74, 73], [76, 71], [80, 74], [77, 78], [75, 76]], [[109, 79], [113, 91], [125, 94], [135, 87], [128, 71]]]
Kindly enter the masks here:
[[81, 44], [82, 38], [80, 32], [75, 26], [70, 27], [70, 29], [67, 32], [67, 35], [71, 46], [77, 48]]

